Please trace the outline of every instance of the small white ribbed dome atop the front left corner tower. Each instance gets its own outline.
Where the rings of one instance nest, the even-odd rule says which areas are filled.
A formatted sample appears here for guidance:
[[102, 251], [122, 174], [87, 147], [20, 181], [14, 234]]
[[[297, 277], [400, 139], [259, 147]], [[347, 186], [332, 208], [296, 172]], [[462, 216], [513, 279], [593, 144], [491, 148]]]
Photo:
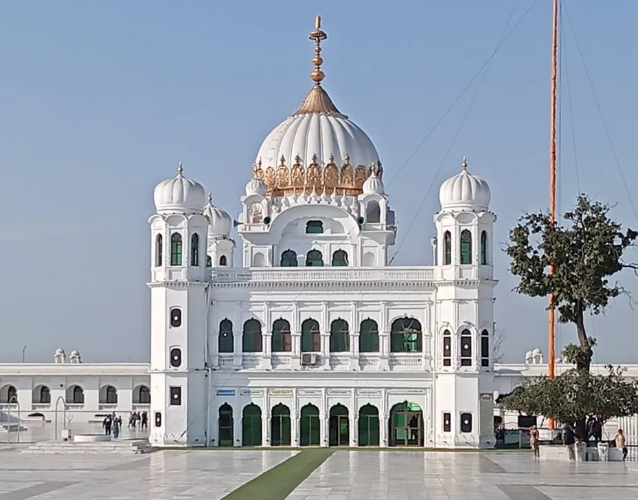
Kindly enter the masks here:
[[157, 213], [202, 213], [202, 207], [206, 203], [206, 191], [198, 182], [184, 177], [183, 171], [180, 163], [177, 177], [155, 186], [153, 199]]

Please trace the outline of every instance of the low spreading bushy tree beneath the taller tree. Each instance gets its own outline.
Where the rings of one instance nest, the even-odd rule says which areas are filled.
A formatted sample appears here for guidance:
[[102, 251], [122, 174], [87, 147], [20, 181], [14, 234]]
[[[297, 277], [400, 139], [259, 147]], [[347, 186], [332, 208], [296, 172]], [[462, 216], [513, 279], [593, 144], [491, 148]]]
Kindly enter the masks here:
[[606, 375], [571, 369], [554, 380], [546, 376], [525, 380], [499, 398], [503, 408], [526, 415], [544, 415], [576, 427], [576, 435], [589, 439], [593, 424], [638, 413], [638, 381], [624, 370], [607, 366]]

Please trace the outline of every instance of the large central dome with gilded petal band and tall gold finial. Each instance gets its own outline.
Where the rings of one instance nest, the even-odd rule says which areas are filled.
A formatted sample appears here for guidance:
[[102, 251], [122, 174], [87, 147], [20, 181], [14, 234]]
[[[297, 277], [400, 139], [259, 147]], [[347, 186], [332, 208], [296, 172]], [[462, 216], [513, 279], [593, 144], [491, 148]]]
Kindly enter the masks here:
[[[295, 113], [277, 125], [262, 143], [253, 175], [270, 196], [328, 193], [357, 196], [379, 155], [368, 135], [341, 113], [321, 86], [321, 41], [328, 36], [315, 20], [315, 83]], [[381, 174], [379, 173], [379, 176]]]

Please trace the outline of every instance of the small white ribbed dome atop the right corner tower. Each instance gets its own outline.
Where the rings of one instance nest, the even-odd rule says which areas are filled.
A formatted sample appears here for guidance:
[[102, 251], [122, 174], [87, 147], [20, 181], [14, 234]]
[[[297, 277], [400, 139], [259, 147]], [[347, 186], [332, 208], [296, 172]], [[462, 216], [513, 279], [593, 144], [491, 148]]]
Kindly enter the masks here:
[[461, 173], [450, 177], [439, 190], [442, 210], [486, 211], [492, 192], [486, 180], [468, 172], [468, 162], [463, 158]]

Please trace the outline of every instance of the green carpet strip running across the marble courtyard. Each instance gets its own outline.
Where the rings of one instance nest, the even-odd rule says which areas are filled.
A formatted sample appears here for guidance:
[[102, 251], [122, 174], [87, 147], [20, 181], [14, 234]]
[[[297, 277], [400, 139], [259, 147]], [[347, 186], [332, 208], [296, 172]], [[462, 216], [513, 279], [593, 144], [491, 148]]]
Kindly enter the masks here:
[[301, 451], [227, 494], [222, 500], [284, 500], [333, 451], [326, 448]]

